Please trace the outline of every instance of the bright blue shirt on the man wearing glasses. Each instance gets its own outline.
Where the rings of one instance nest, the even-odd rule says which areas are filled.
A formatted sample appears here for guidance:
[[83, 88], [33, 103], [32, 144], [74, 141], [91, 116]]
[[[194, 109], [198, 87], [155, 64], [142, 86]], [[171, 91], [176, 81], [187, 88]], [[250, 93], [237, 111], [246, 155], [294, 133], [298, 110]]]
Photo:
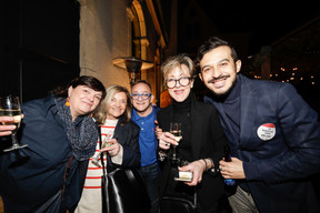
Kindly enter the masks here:
[[157, 162], [158, 139], [154, 132], [154, 121], [157, 120], [157, 112], [159, 110], [160, 108], [152, 105], [152, 112], [147, 116], [140, 116], [134, 109], [132, 110], [131, 120], [140, 126], [141, 166], [151, 165]]

